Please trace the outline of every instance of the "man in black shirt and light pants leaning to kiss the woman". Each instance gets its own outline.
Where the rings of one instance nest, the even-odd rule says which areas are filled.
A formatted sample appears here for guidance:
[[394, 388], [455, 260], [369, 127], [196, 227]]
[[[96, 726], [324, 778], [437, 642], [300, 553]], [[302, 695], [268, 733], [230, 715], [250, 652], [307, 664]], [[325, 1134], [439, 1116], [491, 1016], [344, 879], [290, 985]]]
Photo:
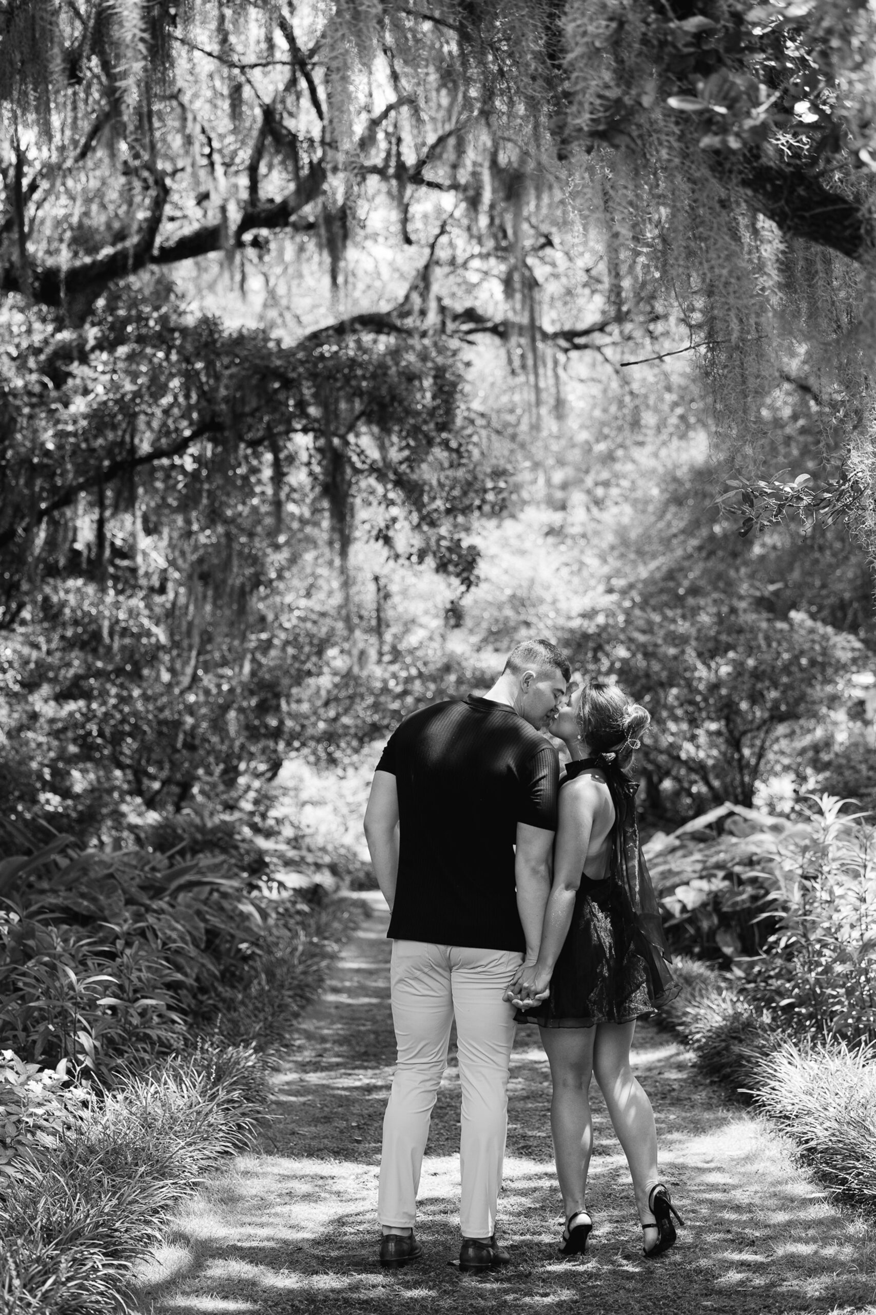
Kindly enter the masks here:
[[391, 910], [398, 1065], [383, 1120], [381, 1264], [422, 1255], [416, 1190], [456, 1018], [462, 1118], [462, 1269], [504, 1264], [495, 1214], [507, 1128], [514, 1009], [502, 997], [538, 955], [557, 827], [549, 730], [569, 663], [546, 639], [517, 644], [481, 698], [406, 717], [377, 764], [365, 835]]

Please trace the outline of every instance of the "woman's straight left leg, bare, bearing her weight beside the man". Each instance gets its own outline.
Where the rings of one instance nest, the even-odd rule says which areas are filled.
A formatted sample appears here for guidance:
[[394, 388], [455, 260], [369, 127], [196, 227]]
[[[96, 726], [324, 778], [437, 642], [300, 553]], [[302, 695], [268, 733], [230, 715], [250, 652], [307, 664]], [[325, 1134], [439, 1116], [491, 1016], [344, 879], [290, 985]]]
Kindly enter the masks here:
[[550, 1131], [566, 1219], [587, 1214], [584, 1189], [594, 1144], [590, 1099], [595, 1027], [541, 1027], [550, 1064]]

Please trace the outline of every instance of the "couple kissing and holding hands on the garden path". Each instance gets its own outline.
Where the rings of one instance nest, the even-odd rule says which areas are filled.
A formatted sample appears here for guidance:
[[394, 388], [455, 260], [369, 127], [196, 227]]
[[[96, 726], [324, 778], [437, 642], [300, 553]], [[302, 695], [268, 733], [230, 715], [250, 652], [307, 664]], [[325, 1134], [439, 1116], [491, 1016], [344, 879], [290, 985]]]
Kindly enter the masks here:
[[[596, 1078], [626, 1156], [642, 1249], [675, 1241], [654, 1114], [630, 1068], [636, 1020], [678, 994], [638, 843], [629, 765], [650, 718], [621, 689], [570, 689], [546, 639], [517, 644], [483, 697], [406, 717], [377, 764], [365, 835], [391, 910], [398, 1063], [383, 1119], [380, 1262], [418, 1260], [416, 1193], [456, 1019], [462, 1270], [510, 1261], [496, 1241], [511, 1048], [537, 1024], [565, 1227], [584, 1251]], [[571, 696], [571, 697], [570, 697]], [[562, 775], [557, 748], [569, 761]]]

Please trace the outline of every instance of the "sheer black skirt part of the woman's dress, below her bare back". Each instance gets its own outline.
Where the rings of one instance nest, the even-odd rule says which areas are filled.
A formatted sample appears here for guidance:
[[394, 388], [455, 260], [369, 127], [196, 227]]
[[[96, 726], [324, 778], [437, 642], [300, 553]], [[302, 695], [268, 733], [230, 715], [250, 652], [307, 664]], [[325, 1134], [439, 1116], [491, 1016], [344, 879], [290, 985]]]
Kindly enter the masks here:
[[582, 877], [550, 994], [535, 1009], [519, 1009], [515, 1022], [594, 1027], [647, 1018], [655, 1013], [654, 999], [665, 994], [658, 956], [637, 926], [620, 881]]

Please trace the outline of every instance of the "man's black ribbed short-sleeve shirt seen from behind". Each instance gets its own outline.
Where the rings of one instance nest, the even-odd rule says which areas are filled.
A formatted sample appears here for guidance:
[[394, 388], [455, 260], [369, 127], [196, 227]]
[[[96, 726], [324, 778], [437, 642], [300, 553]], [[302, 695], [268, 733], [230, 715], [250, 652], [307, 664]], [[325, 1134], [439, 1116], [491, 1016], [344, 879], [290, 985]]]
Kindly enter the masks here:
[[395, 777], [399, 861], [387, 935], [525, 949], [517, 823], [557, 828], [553, 746], [506, 704], [469, 696], [406, 717], [377, 764]]

